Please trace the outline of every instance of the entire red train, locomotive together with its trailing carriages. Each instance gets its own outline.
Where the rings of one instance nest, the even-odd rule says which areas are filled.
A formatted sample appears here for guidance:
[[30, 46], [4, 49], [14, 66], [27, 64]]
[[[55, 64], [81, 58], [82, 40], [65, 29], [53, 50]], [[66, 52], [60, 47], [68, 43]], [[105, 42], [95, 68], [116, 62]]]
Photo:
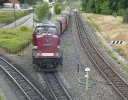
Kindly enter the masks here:
[[51, 20], [49, 24], [39, 23], [33, 32], [33, 66], [38, 70], [54, 71], [62, 66], [60, 54], [60, 35], [68, 27], [71, 9], [66, 8], [59, 17]]

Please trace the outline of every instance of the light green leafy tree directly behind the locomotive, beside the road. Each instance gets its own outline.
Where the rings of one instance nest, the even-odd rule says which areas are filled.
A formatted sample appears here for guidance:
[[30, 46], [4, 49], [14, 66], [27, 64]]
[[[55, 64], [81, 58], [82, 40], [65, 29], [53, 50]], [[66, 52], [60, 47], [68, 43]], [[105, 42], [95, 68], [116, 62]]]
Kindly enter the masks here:
[[46, 23], [49, 17], [49, 9], [50, 7], [48, 2], [43, 2], [42, 4], [39, 4], [39, 6], [35, 8], [35, 14], [37, 18], [35, 19], [35, 21], [40, 23]]

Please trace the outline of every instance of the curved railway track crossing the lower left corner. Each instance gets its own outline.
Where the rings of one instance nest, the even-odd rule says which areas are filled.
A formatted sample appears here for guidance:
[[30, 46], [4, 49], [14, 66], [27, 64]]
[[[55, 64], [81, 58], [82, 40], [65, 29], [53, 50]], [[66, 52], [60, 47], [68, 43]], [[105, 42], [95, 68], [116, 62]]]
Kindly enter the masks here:
[[23, 74], [2, 57], [0, 57], [0, 67], [10, 76], [28, 100], [46, 100]]

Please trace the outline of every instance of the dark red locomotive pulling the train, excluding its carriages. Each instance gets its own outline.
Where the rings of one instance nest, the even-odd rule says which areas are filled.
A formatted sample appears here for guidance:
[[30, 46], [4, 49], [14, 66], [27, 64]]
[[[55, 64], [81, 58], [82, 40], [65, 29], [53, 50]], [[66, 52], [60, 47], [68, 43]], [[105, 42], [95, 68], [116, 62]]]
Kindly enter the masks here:
[[43, 71], [53, 71], [62, 65], [59, 52], [60, 35], [55, 26], [42, 25], [36, 27], [37, 49], [33, 49], [33, 66]]

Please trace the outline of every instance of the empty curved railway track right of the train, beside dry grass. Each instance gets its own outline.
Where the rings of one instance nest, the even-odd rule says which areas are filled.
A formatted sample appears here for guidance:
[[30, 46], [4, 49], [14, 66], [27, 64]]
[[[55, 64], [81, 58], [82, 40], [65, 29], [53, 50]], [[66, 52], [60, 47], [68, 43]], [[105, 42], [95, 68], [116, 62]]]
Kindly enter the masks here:
[[75, 20], [81, 43], [94, 62], [95, 66], [100, 70], [100, 72], [110, 82], [110, 84], [117, 90], [122, 98], [128, 100], [128, 83], [112, 68], [112, 66], [109, 65], [109, 63], [98, 52], [88, 36], [89, 33], [84, 27], [81, 16], [77, 12], [75, 12]]

